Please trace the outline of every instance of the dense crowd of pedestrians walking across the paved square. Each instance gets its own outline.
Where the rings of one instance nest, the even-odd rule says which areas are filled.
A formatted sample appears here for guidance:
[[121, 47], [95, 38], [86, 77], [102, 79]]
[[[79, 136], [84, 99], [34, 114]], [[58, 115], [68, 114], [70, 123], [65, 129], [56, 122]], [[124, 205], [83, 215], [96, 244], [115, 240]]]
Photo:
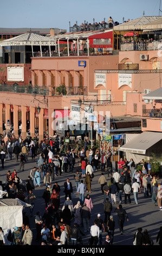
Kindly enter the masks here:
[[[108, 157], [99, 150], [90, 148], [87, 151], [87, 141], [81, 149], [80, 154], [76, 155], [73, 149], [67, 150], [63, 156], [54, 153], [53, 140], [48, 137], [38, 143], [37, 139], [15, 138], [5, 136], [1, 142], [0, 152], [8, 161], [15, 157], [18, 162], [20, 157], [19, 169], [11, 173], [8, 170], [6, 181], [1, 181], [0, 190], [7, 192], [5, 197], [18, 198], [23, 202], [29, 203], [30, 216], [35, 216], [35, 188], [43, 186], [42, 198], [44, 200], [44, 212], [36, 212], [35, 241], [41, 245], [82, 245], [82, 236], [90, 234], [87, 245], [113, 245], [114, 231], [116, 224], [112, 213], [118, 216], [118, 227], [120, 234], [124, 233], [125, 220], [129, 221], [128, 214], [123, 204], [132, 203], [132, 194], [135, 204], [138, 204], [138, 194], [141, 188], [144, 190], [144, 197], [150, 197], [154, 205], [158, 203], [162, 210], [162, 202], [159, 196], [161, 184], [152, 174], [150, 162], [142, 160], [139, 164], [142, 170], [137, 170], [133, 159], [130, 161], [122, 160], [118, 162], [118, 168], [113, 170], [111, 155]], [[88, 153], [87, 153], [88, 152]], [[25, 169], [25, 163], [30, 156], [31, 161], [36, 161], [34, 167], [30, 170], [27, 179], [23, 182], [20, 170]], [[5, 159], [4, 157], [4, 159]], [[79, 157], [79, 159], [78, 159]], [[1, 161], [3, 157], [1, 156]], [[76, 161], [78, 164], [76, 164]], [[2, 161], [4, 168], [5, 161]], [[79, 166], [78, 166], [79, 165]], [[101, 176], [98, 184], [101, 186], [103, 195], [102, 210], [105, 214], [104, 220], [101, 214], [97, 214], [92, 220], [92, 209], [94, 208], [92, 197], [92, 184], [95, 173], [101, 170]], [[67, 174], [66, 174], [67, 173]], [[74, 205], [74, 186], [72, 180], [68, 178], [68, 173], [74, 174], [76, 193], [78, 201]], [[63, 190], [56, 177], [64, 174], [66, 180], [63, 184]], [[106, 175], [109, 177], [107, 182]], [[43, 184], [41, 182], [43, 178]], [[64, 193], [64, 203], [61, 204], [60, 196]], [[86, 194], [87, 193], [87, 194]], [[117, 206], [117, 201], [119, 205]], [[113, 208], [113, 205], [115, 209]], [[93, 224], [90, 226], [90, 221]], [[106, 239], [103, 241], [103, 232], [106, 232]], [[142, 234], [141, 228], [134, 236], [134, 243], [138, 244], [139, 236], [142, 234], [142, 244], [152, 245], [152, 240], [148, 241], [147, 230]], [[23, 212], [22, 227], [14, 227], [12, 234], [8, 234], [8, 241], [12, 245], [32, 245], [34, 241], [33, 231], [30, 229], [30, 221], [26, 212]], [[133, 237], [132, 237], [133, 239]], [[157, 241], [161, 243], [161, 231], [157, 236]], [[5, 244], [3, 236], [3, 227], [0, 228], [0, 242]]]

